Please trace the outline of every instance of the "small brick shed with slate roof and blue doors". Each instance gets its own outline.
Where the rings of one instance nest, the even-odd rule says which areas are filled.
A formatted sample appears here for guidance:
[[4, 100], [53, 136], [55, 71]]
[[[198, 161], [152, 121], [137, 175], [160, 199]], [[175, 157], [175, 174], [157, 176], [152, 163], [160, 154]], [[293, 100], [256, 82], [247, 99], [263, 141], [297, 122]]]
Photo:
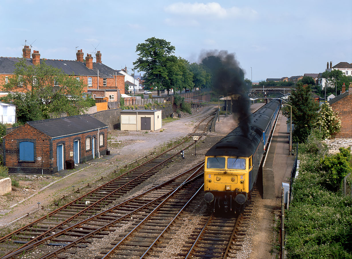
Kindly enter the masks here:
[[9, 173], [55, 174], [105, 155], [107, 127], [90, 115], [27, 122], [3, 137], [4, 164]]

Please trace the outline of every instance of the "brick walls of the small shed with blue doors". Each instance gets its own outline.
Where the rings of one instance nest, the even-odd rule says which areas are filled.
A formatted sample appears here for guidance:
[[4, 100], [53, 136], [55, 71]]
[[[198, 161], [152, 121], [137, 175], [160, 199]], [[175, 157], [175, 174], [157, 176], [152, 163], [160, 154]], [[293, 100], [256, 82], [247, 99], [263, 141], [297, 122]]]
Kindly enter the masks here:
[[[8, 167], [9, 173], [55, 174], [57, 172], [57, 145], [63, 144], [64, 169], [66, 169], [65, 161], [73, 159], [73, 156], [70, 156], [70, 152], [73, 152], [73, 143], [75, 140], [80, 141], [80, 163], [93, 159], [93, 137], [95, 138], [95, 157], [98, 156], [98, 145], [100, 156], [106, 154], [107, 129], [100, 130], [100, 134], [103, 134], [102, 145], [99, 145], [98, 130], [52, 140], [48, 135], [43, 134], [28, 124], [25, 124], [3, 138], [4, 164]], [[88, 150], [86, 150], [87, 137], [90, 137], [90, 148]], [[19, 143], [21, 141], [33, 142], [33, 162], [19, 161]]]

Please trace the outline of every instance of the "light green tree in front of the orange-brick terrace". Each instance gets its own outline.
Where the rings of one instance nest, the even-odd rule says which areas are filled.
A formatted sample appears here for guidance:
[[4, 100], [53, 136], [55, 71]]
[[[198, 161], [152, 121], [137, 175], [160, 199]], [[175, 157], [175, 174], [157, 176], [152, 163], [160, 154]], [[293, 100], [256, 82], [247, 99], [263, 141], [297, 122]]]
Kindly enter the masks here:
[[20, 123], [48, 119], [50, 114], [78, 115], [90, 106], [83, 98], [84, 83], [44, 60], [32, 65], [20, 59], [2, 89], [9, 93], [1, 100], [17, 106]]

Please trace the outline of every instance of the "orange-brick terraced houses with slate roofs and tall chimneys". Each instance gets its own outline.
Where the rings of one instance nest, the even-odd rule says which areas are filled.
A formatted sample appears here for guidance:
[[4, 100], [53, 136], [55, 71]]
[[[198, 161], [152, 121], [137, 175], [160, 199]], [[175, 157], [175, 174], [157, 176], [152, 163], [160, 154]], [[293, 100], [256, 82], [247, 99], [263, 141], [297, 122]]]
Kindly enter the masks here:
[[[74, 73], [77, 80], [82, 80], [87, 84], [84, 91], [92, 95], [94, 99], [107, 99], [109, 102], [119, 101], [121, 93], [125, 92], [124, 76], [116, 70], [102, 64], [102, 54], [98, 51], [95, 54], [96, 62], [93, 62], [91, 54], [87, 54], [84, 60], [84, 53], [78, 50], [76, 60], [44, 59], [45, 63], [62, 69], [67, 75]], [[40, 64], [39, 51], [33, 51], [31, 58], [30, 46], [24, 46], [23, 57], [28, 65]], [[0, 57], [0, 85], [7, 83], [8, 79], [14, 75], [15, 64], [19, 58]], [[0, 96], [7, 93], [0, 91]]]

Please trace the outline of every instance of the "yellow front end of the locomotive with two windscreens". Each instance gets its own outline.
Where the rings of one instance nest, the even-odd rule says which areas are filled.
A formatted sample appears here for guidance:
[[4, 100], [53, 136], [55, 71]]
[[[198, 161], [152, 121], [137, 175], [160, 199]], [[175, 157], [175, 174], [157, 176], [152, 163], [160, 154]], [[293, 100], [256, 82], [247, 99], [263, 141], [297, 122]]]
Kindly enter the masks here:
[[[222, 205], [225, 210], [243, 205], [252, 188], [252, 156], [206, 156], [204, 169], [204, 199], [208, 203]], [[234, 201], [233, 201], [234, 200]]]

